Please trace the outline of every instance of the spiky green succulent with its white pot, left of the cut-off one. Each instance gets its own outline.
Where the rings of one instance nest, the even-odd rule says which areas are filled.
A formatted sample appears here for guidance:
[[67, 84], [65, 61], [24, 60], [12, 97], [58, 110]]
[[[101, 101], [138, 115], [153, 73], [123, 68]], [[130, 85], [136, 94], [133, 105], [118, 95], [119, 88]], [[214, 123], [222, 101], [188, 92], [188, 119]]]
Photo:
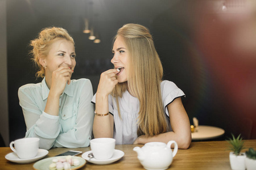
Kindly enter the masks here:
[[242, 138], [238, 135], [237, 138], [232, 134], [232, 139], [229, 138], [229, 150], [232, 152], [229, 153], [229, 161], [231, 168], [233, 170], [245, 170], [245, 153], [242, 153], [243, 150], [243, 141]]

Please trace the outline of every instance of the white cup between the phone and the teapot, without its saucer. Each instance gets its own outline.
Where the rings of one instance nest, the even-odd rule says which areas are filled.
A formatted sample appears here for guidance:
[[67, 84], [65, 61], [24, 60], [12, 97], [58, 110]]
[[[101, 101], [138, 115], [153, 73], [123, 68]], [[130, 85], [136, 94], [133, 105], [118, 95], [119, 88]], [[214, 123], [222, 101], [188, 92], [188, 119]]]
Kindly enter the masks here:
[[113, 138], [96, 138], [90, 141], [90, 148], [92, 149], [95, 159], [104, 160], [110, 159], [115, 150], [115, 139]]

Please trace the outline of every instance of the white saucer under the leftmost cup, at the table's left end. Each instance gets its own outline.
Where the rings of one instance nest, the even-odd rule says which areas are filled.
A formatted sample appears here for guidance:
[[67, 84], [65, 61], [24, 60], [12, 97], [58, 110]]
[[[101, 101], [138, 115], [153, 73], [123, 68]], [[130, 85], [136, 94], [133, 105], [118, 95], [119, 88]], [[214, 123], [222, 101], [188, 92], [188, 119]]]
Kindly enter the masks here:
[[43, 158], [47, 154], [48, 154], [47, 150], [39, 149], [38, 154], [34, 158], [20, 159], [15, 152], [11, 152], [10, 154], [5, 155], [5, 159], [9, 160], [10, 162], [26, 164], [26, 163], [35, 162], [36, 160], [39, 160], [39, 159]]

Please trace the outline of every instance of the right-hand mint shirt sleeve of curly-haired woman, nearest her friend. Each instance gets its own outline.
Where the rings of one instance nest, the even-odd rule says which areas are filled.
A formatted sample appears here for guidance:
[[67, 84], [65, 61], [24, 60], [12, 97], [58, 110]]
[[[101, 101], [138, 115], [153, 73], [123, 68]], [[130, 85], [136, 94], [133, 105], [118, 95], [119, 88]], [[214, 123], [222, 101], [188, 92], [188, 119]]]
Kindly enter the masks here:
[[93, 89], [90, 80], [84, 80], [80, 80], [76, 87], [77, 92], [81, 94], [76, 99], [79, 100], [76, 124], [73, 129], [59, 134], [55, 141], [55, 147], [88, 147], [90, 144], [94, 118], [94, 105], [91, 103]]

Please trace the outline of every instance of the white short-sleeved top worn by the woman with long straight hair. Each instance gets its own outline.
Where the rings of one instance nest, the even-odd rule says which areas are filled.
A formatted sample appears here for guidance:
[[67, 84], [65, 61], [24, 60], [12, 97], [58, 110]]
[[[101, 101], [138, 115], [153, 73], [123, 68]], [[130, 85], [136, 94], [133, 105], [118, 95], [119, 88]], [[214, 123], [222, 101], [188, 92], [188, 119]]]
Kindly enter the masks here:
[[[161, 82], [163, 109], [166, 113], [167, 120], [169, 120], [169, 113], [167, 105], [170, 104], [177, 97], [185, 96], [184, 92], [176, 86], [175, 83], [168, 80]], [[92, 102], [95, 103], [96, 94], [93, 96]], [[133, 144], [138, 138], [137, 136], [137, 117], [139, 112], [139, 100], [136, 97], [130, 95], [126, 90], [123, 93], [122, 98], [118, 97], [120, 114], [119, 118], [117, 102], [115, 97], [109, 95], [109, 112], [114, 117], [114, 135], [116, 145]], [[170, 121], [168, 121], [170, 122]], [[169, 128], [171, 126], [169, 125]], [[170, 129], [171, 130], [171, 129]]]

